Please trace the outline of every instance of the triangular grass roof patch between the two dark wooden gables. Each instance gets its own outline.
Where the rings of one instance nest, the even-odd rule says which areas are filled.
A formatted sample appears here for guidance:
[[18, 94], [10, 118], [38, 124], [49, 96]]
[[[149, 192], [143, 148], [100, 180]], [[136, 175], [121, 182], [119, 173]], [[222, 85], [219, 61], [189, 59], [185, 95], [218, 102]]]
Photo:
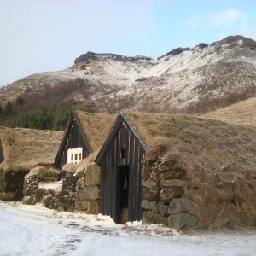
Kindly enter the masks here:
[[77, 111], [84, 133], [93, 152], [98, 150], [113, 126], [117, 115]]

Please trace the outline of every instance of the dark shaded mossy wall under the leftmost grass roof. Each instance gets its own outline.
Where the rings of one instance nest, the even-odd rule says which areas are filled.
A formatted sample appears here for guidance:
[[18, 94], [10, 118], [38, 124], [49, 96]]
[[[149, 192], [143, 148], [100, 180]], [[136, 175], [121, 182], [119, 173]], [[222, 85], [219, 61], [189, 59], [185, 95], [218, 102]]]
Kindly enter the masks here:
[[28, 171], [4, 171], [0, 169], [0, 200], [22, 199], [24, 177]]

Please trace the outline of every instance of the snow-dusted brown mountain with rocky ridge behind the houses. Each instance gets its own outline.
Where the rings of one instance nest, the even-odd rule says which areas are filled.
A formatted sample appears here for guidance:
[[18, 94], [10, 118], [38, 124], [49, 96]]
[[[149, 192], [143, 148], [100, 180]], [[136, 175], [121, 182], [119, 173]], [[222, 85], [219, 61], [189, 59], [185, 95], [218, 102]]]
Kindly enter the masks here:
[[256, 42], [231, 36], [158, 58], [87, 52], [65, 70], [0, 89], [0, 102], [21, 95], [31, 104], [50, 100], [108, 112], [204, 113], [254, 96], [255, 88]]

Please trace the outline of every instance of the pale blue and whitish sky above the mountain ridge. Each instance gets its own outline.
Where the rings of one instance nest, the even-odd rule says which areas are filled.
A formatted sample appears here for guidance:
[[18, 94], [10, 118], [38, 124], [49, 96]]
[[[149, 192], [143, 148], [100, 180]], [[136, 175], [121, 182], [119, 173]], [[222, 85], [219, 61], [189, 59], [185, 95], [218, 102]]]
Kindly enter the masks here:
[[0, 85], [67, 68], [87, 51], [160, 56], [241, 34], [255, 0], [0, 0]]

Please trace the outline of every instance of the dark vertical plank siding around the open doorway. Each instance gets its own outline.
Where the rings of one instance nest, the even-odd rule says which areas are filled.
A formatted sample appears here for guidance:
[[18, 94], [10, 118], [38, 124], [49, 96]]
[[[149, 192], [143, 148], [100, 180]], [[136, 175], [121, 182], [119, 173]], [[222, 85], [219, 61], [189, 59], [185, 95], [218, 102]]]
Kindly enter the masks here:
[[[123, 158], [121, 149], [125, 149]], [[129, 126], [124, 122], [119, 125], [112, 142], [108, 145], [100, 163], [101, 201], [100, 211], [110, 215], [115, 222], [120, 218], [119, 168], [129, 166], [128, 220], [140, 220], [143, 215], [142, 201], [142, 164], [144, 148], [137, 140]]]

